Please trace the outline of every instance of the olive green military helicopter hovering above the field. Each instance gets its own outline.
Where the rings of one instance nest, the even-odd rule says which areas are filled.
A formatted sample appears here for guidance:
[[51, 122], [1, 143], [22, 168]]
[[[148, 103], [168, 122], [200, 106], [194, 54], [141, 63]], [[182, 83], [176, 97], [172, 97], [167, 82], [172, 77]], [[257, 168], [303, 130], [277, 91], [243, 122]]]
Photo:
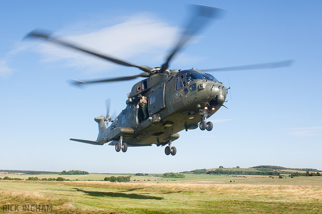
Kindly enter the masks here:
[[[136, 67], [143, 71], [138, 75], [101, 79], [95, 81], [76, 81], [74, 84], [83, 85], [90, 83], [127, 81], [138, 77], [145, 79], [137, 82], [127, 94], [126, 108], [113, 120], [109, 116], [95, 117], [98, 123], [99, 134], [96, 141], [71, 138], [71, 141], [89, 143], [93, 145], [115, 146], [115, 150], [126, 152], [128, 147], [137, 146], [166, 146], [166, 155], [175, 155], [176, 148], [172, 141], [179, 138], [178, 132], [189, 129], [211, 131], [213, 124], [207, 121], [220, 107], [225, 107], [230, 87], [225, 87], [209, 71], [232, 71], [265, 69], [289, 66], [292, 61], [281, 61], [266, 64], [253, 64], [215, 69], [168, 69], [173, 56], [182, 49], [184, 44], [211, 19], [218, 19], [224, 13], [223, 9], [193, 5], [194, 14], [188, 22], [184, 33], [179, 38], [176, 46], [168, 55], [166, 62], [159, 67], [137, 65], [119, 60], [110, 56], [100, 55], [88, 49], [72, 45], [65, 41], [51, 37], [50, 34], [33, 30], [27, 38], [41, 38], [47, 41], [77, 49], [91, 55], [98, 56], [110, 62]], [[108, 127], [107, 125], [110, 124]]]

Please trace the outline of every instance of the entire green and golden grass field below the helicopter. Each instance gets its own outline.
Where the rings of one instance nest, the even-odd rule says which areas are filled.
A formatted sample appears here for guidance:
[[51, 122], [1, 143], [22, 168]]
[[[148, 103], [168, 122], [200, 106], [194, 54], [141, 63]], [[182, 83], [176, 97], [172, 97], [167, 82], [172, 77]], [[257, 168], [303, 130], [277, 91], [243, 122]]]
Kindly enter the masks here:
[[322, 177], [186, 176], [180, 181], [132, 176], [153, 181], [129, 183], [0, 180], [0, 212], [9, 204], [19, 205], [16, 213], [23, 213], [23, 204], [52, 204], [47, 213], [322, 213]]

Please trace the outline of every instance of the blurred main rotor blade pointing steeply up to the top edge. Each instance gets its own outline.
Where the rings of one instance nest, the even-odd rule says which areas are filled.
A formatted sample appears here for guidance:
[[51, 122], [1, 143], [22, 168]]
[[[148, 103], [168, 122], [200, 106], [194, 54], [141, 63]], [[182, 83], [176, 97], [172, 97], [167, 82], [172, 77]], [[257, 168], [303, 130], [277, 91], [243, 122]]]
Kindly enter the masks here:
[[224, 9], [217, 8], [217, 7], [210, 7], [200, 4], [193, 4], [193, 16], [190, 22], [188, 22], [187, 27], [185, 28], [185, 31], [181, 38], [179, 39], [177, 45], [173, 49], [173, 51], [168, 56], [166, 62], [162, 65], [161, 71], [165, 71], [168, 66], [169, 62], [172, 59], [172, 57], [175, 55], [176, 52], [179, 51], [179, 49], [201, 28], [210, 20], [210, 19], [219, 19]]

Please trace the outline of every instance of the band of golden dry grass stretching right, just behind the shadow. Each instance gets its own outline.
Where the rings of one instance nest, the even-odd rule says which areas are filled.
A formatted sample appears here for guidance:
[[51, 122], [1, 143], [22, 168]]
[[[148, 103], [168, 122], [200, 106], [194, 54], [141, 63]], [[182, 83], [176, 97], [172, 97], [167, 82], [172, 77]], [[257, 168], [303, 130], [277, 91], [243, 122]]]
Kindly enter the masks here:
[[109, 188], [124, 191], [155, 193], [225, 194], [233, 196], [292, 198], [296, 200], [321, 200], [322, 185], [267, 185], [267, 184], [191, 184], [191, 183], [109, 183], [70, 182], [64, 185]]

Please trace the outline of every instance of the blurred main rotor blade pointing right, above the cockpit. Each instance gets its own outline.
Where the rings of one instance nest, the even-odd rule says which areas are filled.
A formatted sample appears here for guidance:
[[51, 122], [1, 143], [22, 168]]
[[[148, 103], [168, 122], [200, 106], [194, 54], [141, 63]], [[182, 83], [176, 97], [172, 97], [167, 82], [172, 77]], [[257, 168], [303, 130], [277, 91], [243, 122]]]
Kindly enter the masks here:
[[293, 63], [294, 63], [294, 60], [285, 60], [285, 61], [273, 62], [273, 63], [242, 65], [242, 66], [233, 66], [233, 67], [225, 67], [225, 68], [202, 69], [201, 71], [202, 72], [209, 72], [209, 71], [239, 71], [239, 70], [269, 69], [269, 68], [289, 67]]

